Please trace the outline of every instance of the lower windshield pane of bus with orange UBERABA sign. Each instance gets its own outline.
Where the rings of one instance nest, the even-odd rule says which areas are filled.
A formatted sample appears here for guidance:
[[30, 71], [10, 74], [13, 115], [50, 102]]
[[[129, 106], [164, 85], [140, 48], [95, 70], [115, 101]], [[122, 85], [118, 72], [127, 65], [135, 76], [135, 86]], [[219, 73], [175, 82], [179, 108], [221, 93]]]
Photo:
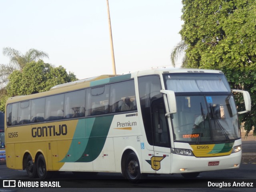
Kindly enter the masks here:
[[218, 142], [240, 137], [233, 96], [177, 96], [176, 141]]

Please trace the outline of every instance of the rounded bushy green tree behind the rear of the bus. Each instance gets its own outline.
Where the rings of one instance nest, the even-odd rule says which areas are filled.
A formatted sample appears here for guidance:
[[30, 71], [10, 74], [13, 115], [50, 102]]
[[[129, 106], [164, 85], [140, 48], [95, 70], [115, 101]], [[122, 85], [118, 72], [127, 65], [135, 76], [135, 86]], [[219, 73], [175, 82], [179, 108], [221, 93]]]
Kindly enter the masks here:
[[20, 70], [14, 70], [9, 76], [6, 86], [7, 95], [0, 100], [0, 110], [5, 111], [5, 102], [8, 97], [29, 95], [50, 90], [53, 86], [77, 80], [73, 73], [69, 74], [62, 66], [54, 67], [51, 64], [32, 61]]

